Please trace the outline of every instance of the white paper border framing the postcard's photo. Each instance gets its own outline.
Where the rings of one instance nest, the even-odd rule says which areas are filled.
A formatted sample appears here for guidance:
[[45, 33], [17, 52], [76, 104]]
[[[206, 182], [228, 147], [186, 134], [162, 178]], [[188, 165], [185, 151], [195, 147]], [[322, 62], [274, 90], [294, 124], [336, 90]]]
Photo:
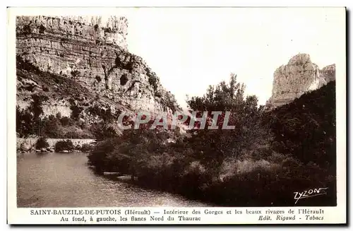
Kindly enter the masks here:
[[[114, 9], [109, 8], [71, 8], [68, 10], [67, 8], [46, 8], [45, 13], [50, 14], [51, 12], [55, 12], [56, 14], [72, 14], [73, 12], [83, 13], [86, 12], [90, 14], [91, 11], [94, 11], [95, 14], [100, 13], [109, 13]], [[342, 9], [344, 11], [344, 9]], [[41, 13], [40, 13], [41, 12]], [[59, 224], [58, 216], [56, 215], [30, 215], [30, 210], [34, 208], [17, 208], [16, 206], [16, 114], [15, 114], [15, 105], [16, 105], [16, 33], [15, 33], [15, 17], [16, 15], [23, 14], [42, 14], [42, 9], [40, 8], [9, 8], [8, 9], [8, 72], [7, 72], [7, 129], [8, 129], [8, 150], [7, 150], [7, 167], [8, 167], [8, 223], [10, 224]], [[54, 14], [55, 14], [54, 13]], [[345, 19], [343, 19], [345, 20]], [[310, 209], [323, 209], [325, 211], [325, 220], [311, 220], [305, 223], [346, 223], [346, 203], [347, 203], [347, 195], [346, 195], [346, 126], [347, 126], [347, 118], [346, 118], [346, 42], [345, 41], [345, 25], [342, 25], [342, 35], [333, 35], [337, 37], [337, 50], [342, 51], [342, 59], [340, 62], [337, 62], [336, 66], [336, 112], [337, 112], [337, 206], [336, 207], [304, 207]], [[45, 208], [52, 210], [59, 210], [60, 208]], [[63, 208], [68, 209], [68, 208]], [[72, 208], [78, 209], [78, 208]], [[83, 208], [83, 209], [92, 209], [96, 210], [97, 208]], [[112, 209], [112, 208], [105, 208]], [[115, 208], [114, 208], [115, 209]], [[119, 209], [119, 208], [116, 208]], [[133, 208], [121, 208], [121, 211], [126, 209]], [[164, 208], [159, 207], [149, 207], [149, 208], [135, 208], [140, 211], [143, 209], [147, 209], [150, 211], [162, 211]], [[170, 209], [170, 208], [165, 208]], [[177, 208], [179, 210], [183, 208]], [[200, 211], [205, 211], [205, 209], [210, 210], [210, 208], [184, 208], [185, 211], [192, 211], [193, 209], [197, 209]], [[256, 209], [265, 211], [268, 208], [212, 208], [213, 210], [221, 210], [226, 213], [229, 210], [243, 210], [246, 209]], [[271, 208], [275, 209], [275, 208]], [[289, 209], [299, 209], [299, 207], [279, 207], [278, 210], [288, 211]], [[220, 218], [210, 215], [201, 215], [201, 223], [193, 222], [192, 224], [259, 224], [258, 219], [252, 218], [250, 215], [234, 215], [227, 216], [222, 215]], [[168, 223], [168, 222], [167, 222]], [[273, 223], [273, 221], [263, 222], [263, 223]], [[275, 223], [278, 223], [276, 221]], [[288, 222], [286, 222], [288, 223]], [[290, 222], [289, 222], [290, 223]], [[298, 222], [296, 222], [298, 223]], [[64, 223], [60, 223], [64, 224]], [[68, 223], [65, 223], [68, 224]], [[112, 223], [111, 223], [112, 224]], [[119, 225], [120, 223], [116, 223]], [[138, 222], [136, 224], [150, 224]], [[155, 222], [153, 224], [164, 224]], [[175, 224], [175, 223], [169, 223]], [[185, 222], [183, 224], [186, 224]], [[191, 223], [190, 223], [191, 224]]]

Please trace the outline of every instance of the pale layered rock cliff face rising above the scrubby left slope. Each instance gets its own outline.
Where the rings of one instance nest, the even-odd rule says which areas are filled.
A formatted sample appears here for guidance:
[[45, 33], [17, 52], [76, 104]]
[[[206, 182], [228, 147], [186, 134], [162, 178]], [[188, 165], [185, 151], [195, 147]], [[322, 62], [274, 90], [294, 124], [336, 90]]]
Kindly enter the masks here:
[[[126, 18], [21, 16], [17, 57], [40, 71], [70, 78], [131, 109], [171, 111], [174, 95], [142, 58], [127, 51]], [[55, 111], [55, 109], [54, 109]]]

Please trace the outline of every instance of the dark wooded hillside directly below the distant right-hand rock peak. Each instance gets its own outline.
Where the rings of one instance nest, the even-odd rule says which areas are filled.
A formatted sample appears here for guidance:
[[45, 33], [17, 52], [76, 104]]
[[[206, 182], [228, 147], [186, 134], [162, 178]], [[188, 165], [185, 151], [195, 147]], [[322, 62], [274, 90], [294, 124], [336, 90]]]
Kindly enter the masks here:
[[316, 162], [331, 168], [336, 163], [335, 81], [304, 93], [268, 116], [275, 134], [273, 148], [290, 153], [304, 163]]

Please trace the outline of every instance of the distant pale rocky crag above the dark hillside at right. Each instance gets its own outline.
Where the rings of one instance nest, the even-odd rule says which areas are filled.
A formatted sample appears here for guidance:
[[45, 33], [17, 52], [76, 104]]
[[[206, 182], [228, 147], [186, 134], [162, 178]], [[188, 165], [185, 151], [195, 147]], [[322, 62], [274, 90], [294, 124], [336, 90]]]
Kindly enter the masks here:
[[335, 64], [319, 69], [311, 62], [309, 54], [297, 54], [273, 74], [272, 96], [268, 108], [292, 102], [310, 90], [316, 90], [335, 80]]

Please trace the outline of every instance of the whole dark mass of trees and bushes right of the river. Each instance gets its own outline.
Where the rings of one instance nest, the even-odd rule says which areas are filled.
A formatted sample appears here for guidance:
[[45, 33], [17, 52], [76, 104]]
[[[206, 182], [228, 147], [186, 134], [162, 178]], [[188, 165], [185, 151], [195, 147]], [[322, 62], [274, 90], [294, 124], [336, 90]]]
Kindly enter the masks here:
[[293, 206], [294, 192], [319, 187], [329, 188], [325, 199], [297, 205], [334, 206], [335, 82], [271, 112], [256, 96], [244, 97], [244, 88], [232, 75], [188, 100], [192, 111], [230, 111], [235, 129], [196, 124], [186, 135], [149, 125], [128, 129], [97, 143], [90, 165], [221, 206]]

